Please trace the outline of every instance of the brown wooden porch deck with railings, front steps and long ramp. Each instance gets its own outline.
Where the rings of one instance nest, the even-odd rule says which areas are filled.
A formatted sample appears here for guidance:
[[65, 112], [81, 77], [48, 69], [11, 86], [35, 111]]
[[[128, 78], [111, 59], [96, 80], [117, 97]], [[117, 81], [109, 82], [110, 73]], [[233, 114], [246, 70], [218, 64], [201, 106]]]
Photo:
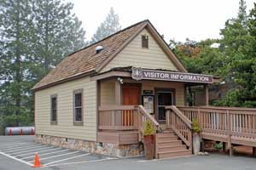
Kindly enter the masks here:
[[[160, 129], [156, 122], [142, 105], [112, 105], [99, 107], [97, 141], [112, 144], [137, 144], [143, 142], [143, 126], [148, 120], [154, 126], [156, 135], [155, 156], [187, 155], [192, 150], [193, 119], [197, 119], [202, 127], [202, 138], [221, 141], [228, 144], [230, 155], [232, 145], [241, 144], [256, 147], [256, 109], [224, 108], [224, 107], [176, 107], [166, 106], [166, 128], [168, 134]], [[177, 154], [173, 152], [174, 141], [171, 136], [177, 136], [175, 142], [180, 148]], [[172, 136], [173, 137], [173, 136]], [[170, 139], [170, 141], [168, 140]], [[168, 141], [166, 141], [166, 139]], [[162, 141], [163, 140], [163, 141]], [[166, 146], [157, 144], [164, 142]], [[181, 142], [181, 143], [180, 143]], [[166, 151], [163, 151], [166, 148]]]

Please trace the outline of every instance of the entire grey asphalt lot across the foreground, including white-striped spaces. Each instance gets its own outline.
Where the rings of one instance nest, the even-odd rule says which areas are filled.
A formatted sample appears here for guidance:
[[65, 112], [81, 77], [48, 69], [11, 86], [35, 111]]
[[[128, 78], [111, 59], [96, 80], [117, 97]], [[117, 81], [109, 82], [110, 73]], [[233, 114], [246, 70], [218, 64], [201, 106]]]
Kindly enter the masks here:
[[166, 160], [144, 160], [93, 155], [36, 144], [33, 136], [0, 136], [0, 170], [30, 170], [38, 152], [44, 170], [255, 170], [256, 158], [246, 156], [188, 156]]

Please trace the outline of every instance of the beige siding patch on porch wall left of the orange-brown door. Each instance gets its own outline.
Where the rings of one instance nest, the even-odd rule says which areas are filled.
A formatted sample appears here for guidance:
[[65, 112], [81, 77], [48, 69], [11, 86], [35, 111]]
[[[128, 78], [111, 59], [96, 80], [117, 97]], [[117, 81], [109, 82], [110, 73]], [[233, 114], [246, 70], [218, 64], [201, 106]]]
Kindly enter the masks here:
[[101, 82], [101, 105], [115, 105], [114, 84], [113, 80]]

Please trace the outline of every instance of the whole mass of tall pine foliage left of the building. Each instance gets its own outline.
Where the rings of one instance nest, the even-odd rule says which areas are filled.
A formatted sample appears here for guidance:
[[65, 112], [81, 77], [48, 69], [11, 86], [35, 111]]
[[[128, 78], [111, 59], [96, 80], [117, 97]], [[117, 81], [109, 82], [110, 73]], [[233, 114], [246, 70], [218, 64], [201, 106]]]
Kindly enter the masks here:
[[0, 115], [18, 126], [27, 116], [32, 122], [31, 88], [84, 47], [85, 31], [73, 4], [63, 0], [5, 0], [0, 9]]

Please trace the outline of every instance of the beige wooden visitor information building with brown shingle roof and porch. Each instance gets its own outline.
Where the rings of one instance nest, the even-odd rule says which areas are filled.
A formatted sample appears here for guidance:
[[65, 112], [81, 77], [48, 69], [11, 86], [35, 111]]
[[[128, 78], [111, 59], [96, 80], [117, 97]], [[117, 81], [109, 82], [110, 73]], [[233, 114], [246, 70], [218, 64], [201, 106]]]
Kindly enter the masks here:
[[[186, 88], [194, 85], [204, 85], [201, 100], [208, 105], [207, 84], [213, 82], [211, 75], [188, 73], [144, 20], [69, 54], [35, 85], [36, 139], [110, 156], [139, 156], [149, 120], [156, 131], [155, 157], [187, 156], [191, 121], [197, 117], [206, 138], [214, 133], [231, 147], [237, 142], [227, 127], [229, 109], [185, 106]], [[237, 126], [248, 126], [244, 130], [255, 139], [254, 112], [247, 118]]]

